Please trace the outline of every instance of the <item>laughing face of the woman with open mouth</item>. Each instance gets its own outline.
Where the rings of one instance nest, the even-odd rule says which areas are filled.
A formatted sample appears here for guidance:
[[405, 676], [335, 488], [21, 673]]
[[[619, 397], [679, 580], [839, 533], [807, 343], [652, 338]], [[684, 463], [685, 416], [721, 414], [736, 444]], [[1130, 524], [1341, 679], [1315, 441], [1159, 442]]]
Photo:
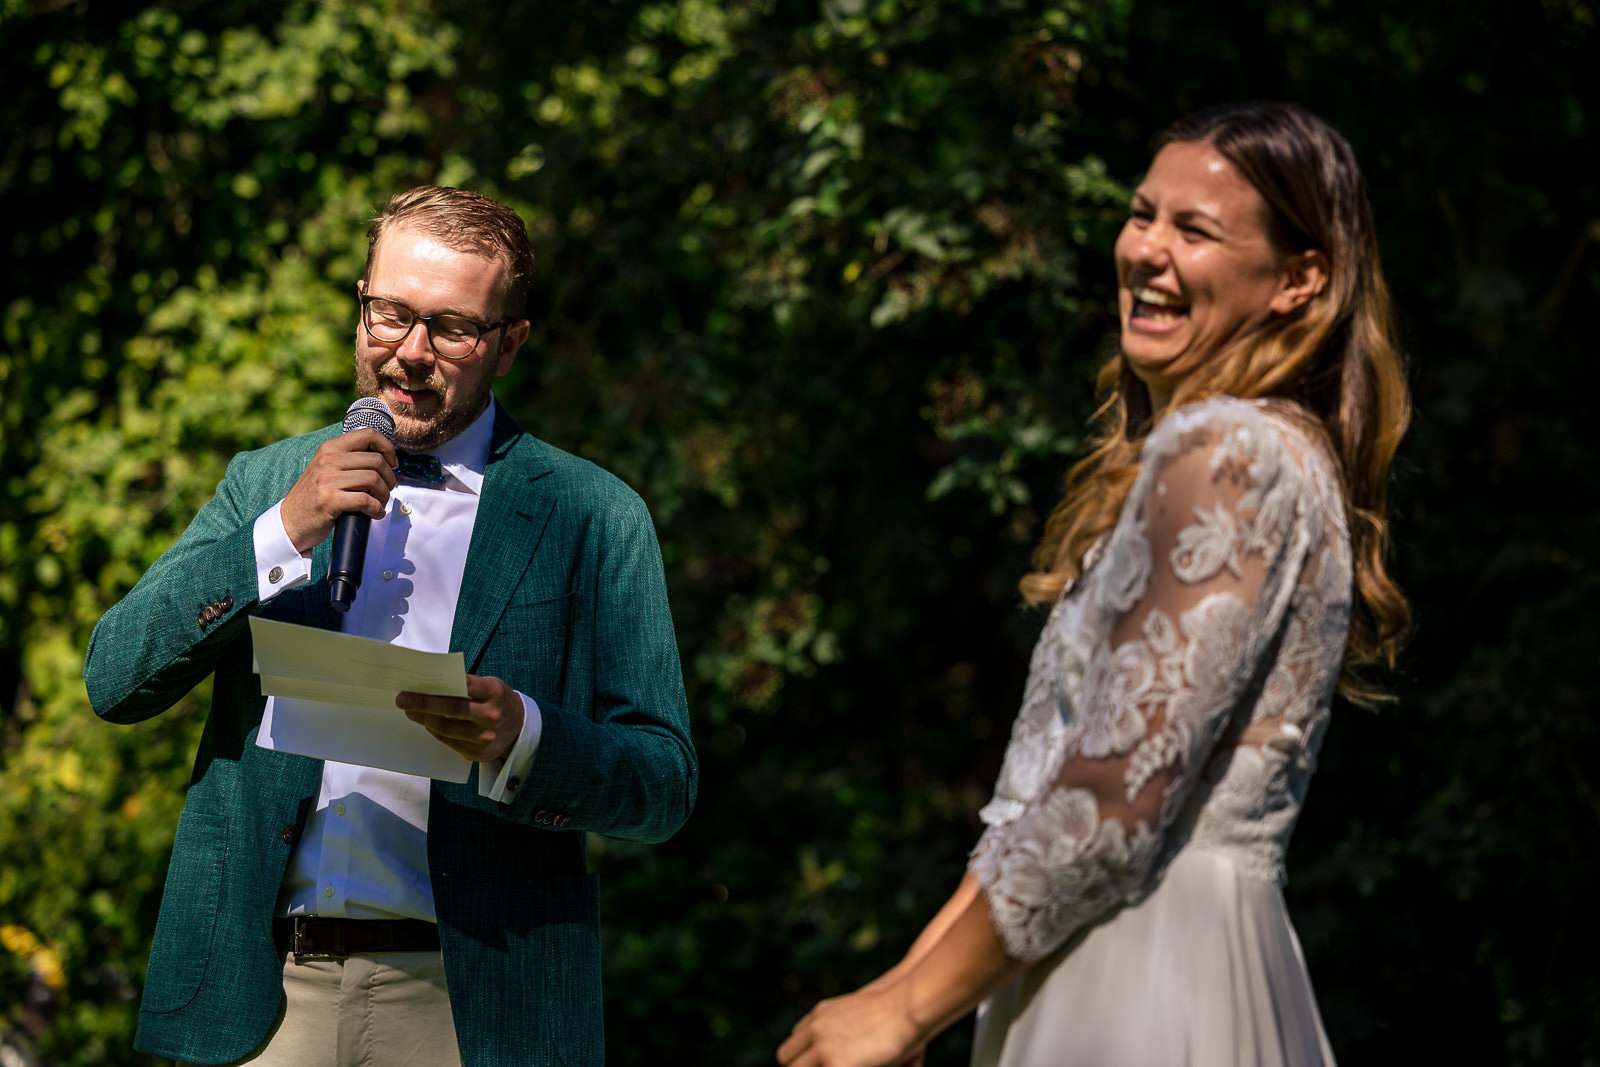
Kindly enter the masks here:
[[1157, 152], [1117, 237], [1122, 350], [1157, 405], [1242, 331], [1304, 299], [1267, 205], [1210, 141]]

